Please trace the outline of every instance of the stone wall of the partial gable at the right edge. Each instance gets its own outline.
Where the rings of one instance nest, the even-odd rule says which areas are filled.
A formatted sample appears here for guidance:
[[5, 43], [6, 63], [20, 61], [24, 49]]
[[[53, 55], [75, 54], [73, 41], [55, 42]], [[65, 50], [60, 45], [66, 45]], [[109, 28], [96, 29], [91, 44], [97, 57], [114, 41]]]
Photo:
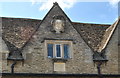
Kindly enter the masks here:
[[106, 47], [106, 56], [108, 62], [102, 67], [102, 72], [118, 74], [118, 28], [113, 33]]

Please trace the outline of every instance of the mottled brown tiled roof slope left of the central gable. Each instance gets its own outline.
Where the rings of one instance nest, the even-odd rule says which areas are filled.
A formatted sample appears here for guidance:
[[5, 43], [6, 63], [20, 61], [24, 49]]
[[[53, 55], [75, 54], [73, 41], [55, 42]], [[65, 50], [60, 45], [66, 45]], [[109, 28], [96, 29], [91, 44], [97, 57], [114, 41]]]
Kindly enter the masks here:
[[35, 32], [41, 20], [2, 17], [2, 37], [21, 48]]

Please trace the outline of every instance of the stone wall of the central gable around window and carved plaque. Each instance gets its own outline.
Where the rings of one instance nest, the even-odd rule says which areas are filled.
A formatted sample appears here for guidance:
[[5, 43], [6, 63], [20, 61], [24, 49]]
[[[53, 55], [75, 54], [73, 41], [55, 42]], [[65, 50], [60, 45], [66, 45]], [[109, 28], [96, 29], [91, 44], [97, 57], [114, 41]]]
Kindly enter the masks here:
[[[92, 61], [92, 51], [86, 45], [80, 34], [74, 29], [68, 18], [61, 12], [58, 7], [54, 7], [47, 15], [38, 31], [30, 39], [30, 42], [23, 50], [25, 58], [23, 66], [17, 64], [15, 72], [19, 73], [97, 73]], [[51, 32], [51, 20], [53, 15], [63, 15], [66, 20], [65, 32], [56, 34]], [[65, 72], [54, 72], [53, 60], [47, 58], [45, 51], [45, 40], [50, 39], [72, 39], [73, 40], [73, 57], [65, 63]], [[10, 67], [10, 65], [8, 65]]]

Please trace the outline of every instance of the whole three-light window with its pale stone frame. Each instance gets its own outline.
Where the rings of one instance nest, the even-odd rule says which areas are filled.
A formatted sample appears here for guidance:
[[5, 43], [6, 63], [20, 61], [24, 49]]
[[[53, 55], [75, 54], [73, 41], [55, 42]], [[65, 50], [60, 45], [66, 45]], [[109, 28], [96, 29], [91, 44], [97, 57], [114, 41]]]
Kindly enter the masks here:
[[48, 58], [71, 58], [72, 41], [46, 40]]

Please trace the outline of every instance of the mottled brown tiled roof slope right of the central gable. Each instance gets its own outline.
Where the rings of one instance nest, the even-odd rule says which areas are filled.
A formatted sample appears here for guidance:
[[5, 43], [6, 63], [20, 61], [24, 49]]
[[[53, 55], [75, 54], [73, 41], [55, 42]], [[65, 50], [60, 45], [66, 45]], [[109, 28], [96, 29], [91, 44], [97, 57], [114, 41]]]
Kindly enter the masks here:
[[88, 23], [73, 23], [73, 25], [93, 51], [97, 51], [98, 45], [103, 39], [105, 30], [110, 27], [110, 25], [106, 24]]

